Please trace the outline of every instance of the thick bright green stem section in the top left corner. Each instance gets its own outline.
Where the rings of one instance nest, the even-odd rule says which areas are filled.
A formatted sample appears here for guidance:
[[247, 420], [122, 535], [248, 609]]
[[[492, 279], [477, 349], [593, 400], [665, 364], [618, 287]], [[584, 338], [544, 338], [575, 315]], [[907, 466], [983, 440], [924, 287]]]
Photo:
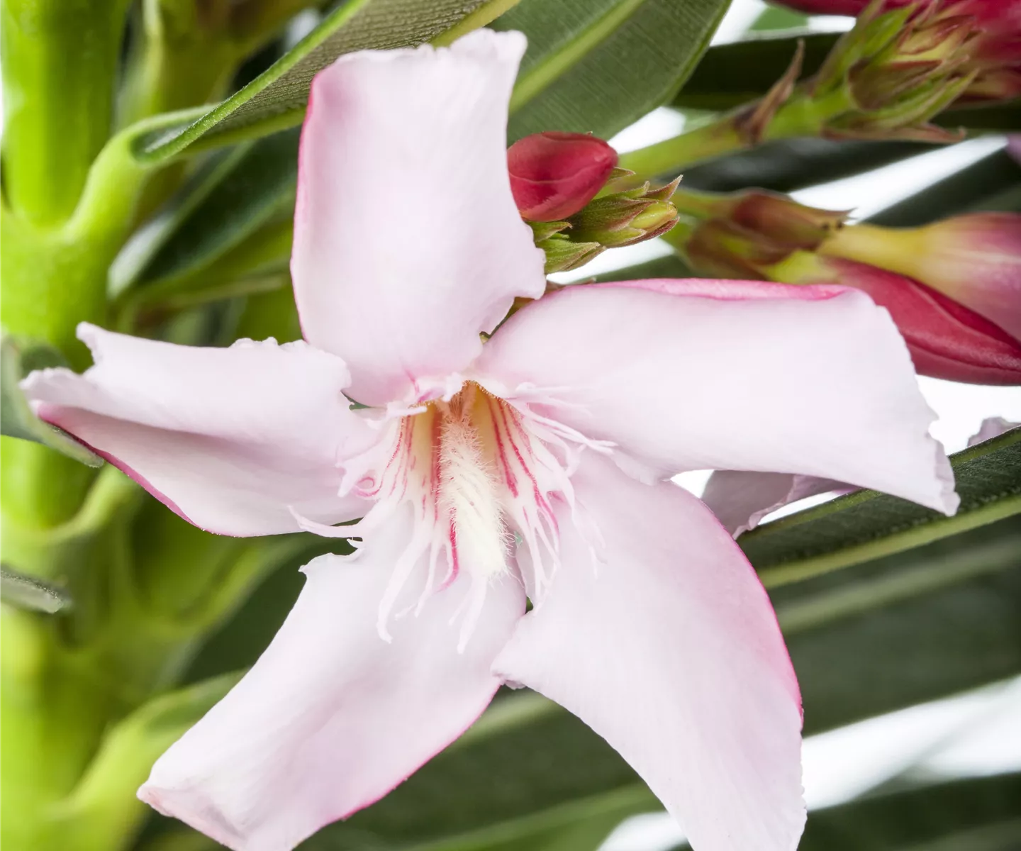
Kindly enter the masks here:
[[127, 5], [0, 2], [4, 184], [11, 208], [37, 227], [71, 215], [110, 135]]

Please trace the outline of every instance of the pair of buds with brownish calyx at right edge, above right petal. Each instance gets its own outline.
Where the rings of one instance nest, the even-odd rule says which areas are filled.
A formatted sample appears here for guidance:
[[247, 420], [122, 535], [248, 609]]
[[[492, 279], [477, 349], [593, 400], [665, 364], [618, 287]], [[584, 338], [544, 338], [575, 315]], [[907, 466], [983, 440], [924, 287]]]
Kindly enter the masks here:
[[700, 274], [856, 287], [889, 311], [920, 374], [1021, 384], [1021, 216], [879, 228], [758, 190], [677, 205], [668, 241]]

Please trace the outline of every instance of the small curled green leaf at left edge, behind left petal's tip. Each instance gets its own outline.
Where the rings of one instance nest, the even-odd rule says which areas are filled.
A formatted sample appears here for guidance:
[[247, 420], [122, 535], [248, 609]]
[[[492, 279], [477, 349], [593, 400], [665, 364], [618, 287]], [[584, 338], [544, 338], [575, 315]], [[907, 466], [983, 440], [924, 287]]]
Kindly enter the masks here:
[[56, 348], [0, 329], [0, 435], [44, 443], [90, 467], [99, 467], [103, 463], [99, 456], [36, 417], [18, 387], [33, 370], [61, 366], [66, 362]]

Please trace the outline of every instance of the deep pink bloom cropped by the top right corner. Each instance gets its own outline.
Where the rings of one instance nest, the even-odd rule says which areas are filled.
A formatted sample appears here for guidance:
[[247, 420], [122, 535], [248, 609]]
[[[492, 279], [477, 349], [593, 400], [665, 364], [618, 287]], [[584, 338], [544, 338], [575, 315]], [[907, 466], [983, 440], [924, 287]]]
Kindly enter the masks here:
[[[856, 17], [872, 0], [778, 0], [809, 14], [846, 14]], [[954, 25], [971, 18], [975, 34], [967, 45], [965, 70], [974, 72], [962, 100], [1007, 100], [1021, 96], [1021, 3], [1016, 0], [884, 0], [878, 11], [915, 5], [931, 23]]]

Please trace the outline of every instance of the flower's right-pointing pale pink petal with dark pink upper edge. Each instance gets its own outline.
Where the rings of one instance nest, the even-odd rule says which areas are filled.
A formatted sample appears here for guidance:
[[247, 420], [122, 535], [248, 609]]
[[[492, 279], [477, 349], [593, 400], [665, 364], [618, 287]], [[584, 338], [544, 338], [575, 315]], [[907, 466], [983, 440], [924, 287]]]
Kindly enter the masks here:
[[838, 287], [685, 285], [568, 287], [512, 317], [475, 369], [614, 441], [645, 480], [800, 473], [956, 509], [950, 464], [927, 434], [934, 415], [885, 311]]

